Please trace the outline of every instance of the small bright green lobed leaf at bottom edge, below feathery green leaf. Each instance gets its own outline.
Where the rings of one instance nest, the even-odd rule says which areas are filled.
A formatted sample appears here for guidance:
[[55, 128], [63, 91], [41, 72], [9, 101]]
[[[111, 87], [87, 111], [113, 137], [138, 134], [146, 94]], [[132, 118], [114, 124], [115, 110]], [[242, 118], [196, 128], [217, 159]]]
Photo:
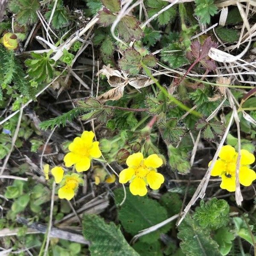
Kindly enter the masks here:
[[225, 256], [227, 255], [232, 247], [232, 241], [235, 239], [235, 236], [233, 233], [229, 231], [229, 228], [227, 227], [221, 227], [217, 230], [214, 240], [219, 245], [219, 250], [221, 255]]

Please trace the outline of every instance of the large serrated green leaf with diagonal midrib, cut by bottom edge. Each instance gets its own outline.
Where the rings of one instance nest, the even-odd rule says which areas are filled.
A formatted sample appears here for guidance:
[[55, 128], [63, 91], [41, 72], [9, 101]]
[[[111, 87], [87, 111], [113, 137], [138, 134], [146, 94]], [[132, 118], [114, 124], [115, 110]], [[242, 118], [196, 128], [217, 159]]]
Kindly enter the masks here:
[[83, 235], [90, 241], [91, 256], [139, 256], [125, 241], [119, 227], [113, 222], [106, 224], [104, 219], [97, 215], [84, 215]]

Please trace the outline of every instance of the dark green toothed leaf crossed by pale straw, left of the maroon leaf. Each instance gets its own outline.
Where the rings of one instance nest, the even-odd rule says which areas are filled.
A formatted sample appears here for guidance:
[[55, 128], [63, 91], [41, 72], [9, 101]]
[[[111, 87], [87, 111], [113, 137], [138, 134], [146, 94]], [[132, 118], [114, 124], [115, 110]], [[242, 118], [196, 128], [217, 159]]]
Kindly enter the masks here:
[[179, 42], [170, 43], [161, 50], [161, 61], [167, 62], [171, 68], [179, 68], [188, 64], [183, 46]]

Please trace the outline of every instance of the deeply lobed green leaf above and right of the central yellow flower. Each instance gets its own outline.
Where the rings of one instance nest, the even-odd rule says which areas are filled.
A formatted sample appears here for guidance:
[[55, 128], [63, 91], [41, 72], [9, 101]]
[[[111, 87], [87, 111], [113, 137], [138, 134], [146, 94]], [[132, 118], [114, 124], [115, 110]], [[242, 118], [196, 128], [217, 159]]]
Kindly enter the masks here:
[[184, 127], [178, 125], [177, 118], [170, 118], [168, 121], [162, 121], [158, 124], [163, 140], [170, 143], [177, 143], [180, 138], [185, 136]]

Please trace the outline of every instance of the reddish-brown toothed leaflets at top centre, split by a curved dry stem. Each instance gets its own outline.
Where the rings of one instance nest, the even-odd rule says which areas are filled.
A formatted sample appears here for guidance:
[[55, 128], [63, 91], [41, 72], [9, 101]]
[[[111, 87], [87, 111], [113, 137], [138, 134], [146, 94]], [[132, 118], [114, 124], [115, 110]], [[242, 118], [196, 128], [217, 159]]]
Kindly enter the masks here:
[[[116, 20], [118, 12], [120, 11], [120, 1], [119, 0], [102, 0], [103, 9], [98, 12], [99, 20], [98, 23], [100, 26], [111, 26], [112, 23]], [[133, 40], [140, 40], [140, 37], [143, 36], [143, 31], [140, 28], [140, 22], [131, 15], [125, 15], [119, 21], [116, 29], [119, 33], [119, 36], [123, 38], [125, 42], [130, 42]]]

